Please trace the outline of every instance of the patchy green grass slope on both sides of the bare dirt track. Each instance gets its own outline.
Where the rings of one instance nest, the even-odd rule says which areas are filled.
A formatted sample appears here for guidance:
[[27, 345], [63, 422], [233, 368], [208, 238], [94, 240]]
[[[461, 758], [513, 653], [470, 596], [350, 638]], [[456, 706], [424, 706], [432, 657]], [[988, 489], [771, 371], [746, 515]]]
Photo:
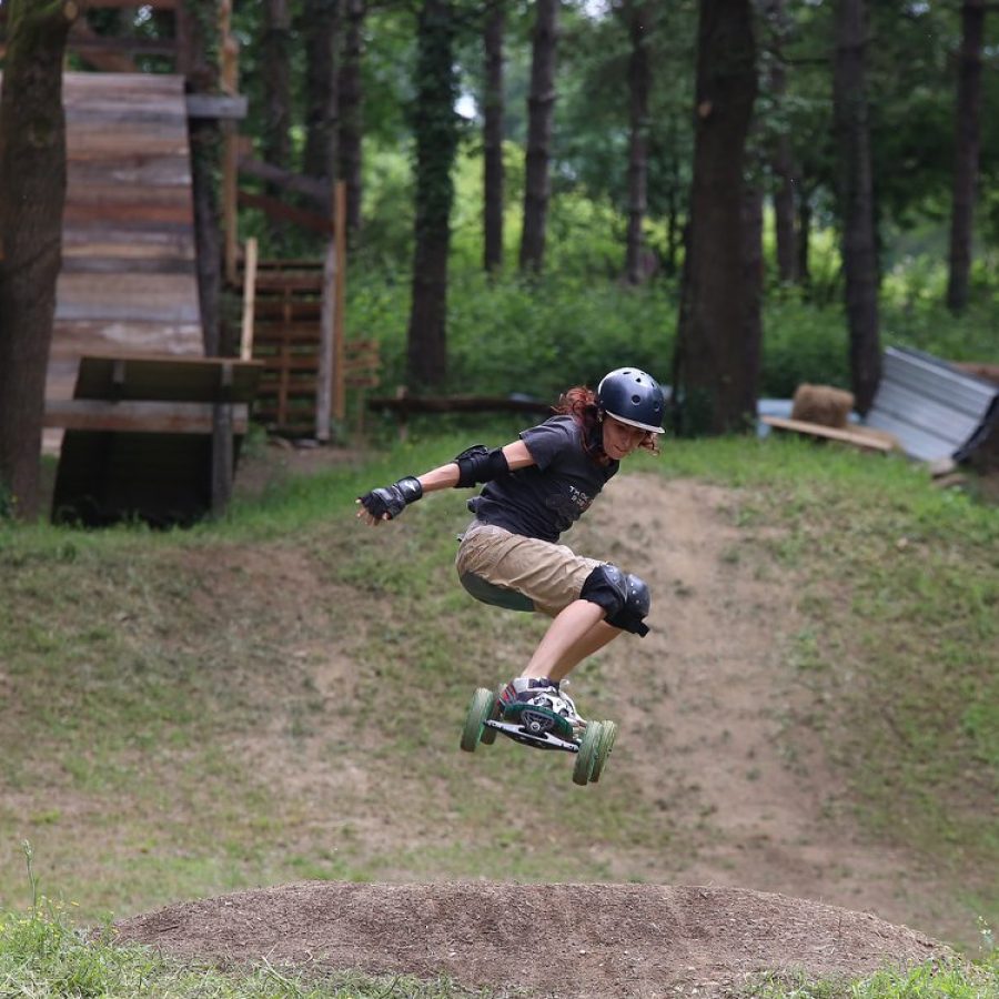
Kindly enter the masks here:
[[[0, 909], [21, 891], [23, 839], [47, 891], [90, 921], [300, 878], [619, 877], [595, 837], [628, 877], [685, 856], [689, 830], [627, 767], [581, 813], [558, 754], [457, 758], [471, 690], [523, 662], [542, 627], [511, 628], [454, 586], [465, 496], [377, 532], [354, 521], [372, 484], [513, 435], [504, 421], [416, 424], [384, 454], [186, 532], [0, 527]], [[668, 442], [643, 468], [729, 488], [740, 539], [724, 558], [795, 581], [790, 656], [813, 699], [787, 719], [789, 755], [818, 731], [869, 834], [926, 858], [995, 922], [995, 507], [902, 461], [789, 440]], [[485, 670], [482, 648], [502, 650]], [[411, 704], [426, 709], [371, 725]], [[309, 761], [327, 790], [296, 784]], [[497, 835], [470, 784], [516, 787], [536, 814], [508, 810]], [[381, 835], [398, 814], [408, 842]], [[441, 836], [442, 815], [460, 835]], [[538, 846], [545, 826], [557, 850]]]

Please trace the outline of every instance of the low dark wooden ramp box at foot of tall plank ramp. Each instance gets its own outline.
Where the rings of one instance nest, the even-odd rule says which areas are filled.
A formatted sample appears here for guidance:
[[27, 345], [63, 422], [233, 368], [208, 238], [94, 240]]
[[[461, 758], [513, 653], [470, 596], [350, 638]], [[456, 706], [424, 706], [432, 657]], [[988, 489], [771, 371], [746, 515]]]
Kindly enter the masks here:
[[234, 460], [259, 376], [230, 357], [81, 357], [73, 398], [46, 414], [64, 428], [53, 519], [167, 527], [221, 512], [215, 448], [233, 442]]

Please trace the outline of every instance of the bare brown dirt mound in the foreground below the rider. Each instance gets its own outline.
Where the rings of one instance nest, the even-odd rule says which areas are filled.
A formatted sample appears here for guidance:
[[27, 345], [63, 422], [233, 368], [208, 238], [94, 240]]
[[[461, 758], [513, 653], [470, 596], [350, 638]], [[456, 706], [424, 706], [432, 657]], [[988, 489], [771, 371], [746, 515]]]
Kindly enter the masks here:
[[446, 975], [574, 999], [718, 996], [759, 972], [856, 976], [944, 950], [834, 906], [650, 885], [309, 881], [174, 905], [118, 929], [182, 958]]

